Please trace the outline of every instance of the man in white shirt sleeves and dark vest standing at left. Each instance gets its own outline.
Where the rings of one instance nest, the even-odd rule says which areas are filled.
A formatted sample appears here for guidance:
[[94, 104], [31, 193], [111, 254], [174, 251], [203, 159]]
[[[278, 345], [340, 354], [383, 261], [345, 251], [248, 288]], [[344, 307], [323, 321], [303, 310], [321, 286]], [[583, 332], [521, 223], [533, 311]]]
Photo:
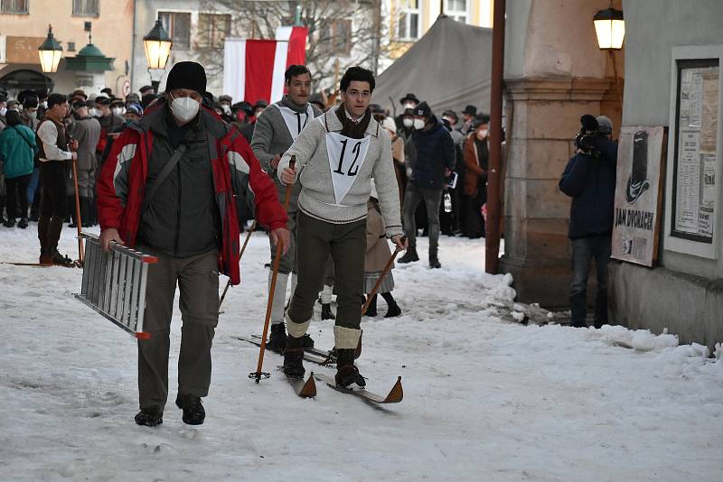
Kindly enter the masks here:
[[68, 256], [58, 252], [62, 221], [69, 208], [65, 184], [70, 171], [69, 161], [78, 159], [78, 153], [71, 152], [78, 148], [78, 143], [69, 143], [63, 122], [69, 112], [68, 97], [51, 94], [48, 97], [48, 110], [36, 133], [42, 182], [38, 238], [40, 264], [43, 265], [72, 265]]

